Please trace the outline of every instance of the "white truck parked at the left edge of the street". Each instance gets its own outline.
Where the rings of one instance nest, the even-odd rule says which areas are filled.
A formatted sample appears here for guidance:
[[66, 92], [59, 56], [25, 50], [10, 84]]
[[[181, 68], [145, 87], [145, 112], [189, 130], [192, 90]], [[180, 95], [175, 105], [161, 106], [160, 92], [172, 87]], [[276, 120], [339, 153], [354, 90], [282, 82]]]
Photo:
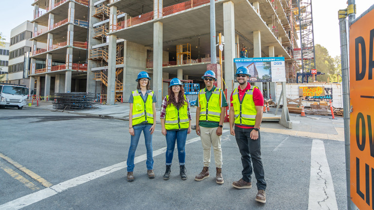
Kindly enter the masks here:
[[[34, 90], [31, 90], [31, 95]], [[26, 105], [29, 88], [22, 85], [0, 83], [0, 108], [17, 107], [22, 109]]]

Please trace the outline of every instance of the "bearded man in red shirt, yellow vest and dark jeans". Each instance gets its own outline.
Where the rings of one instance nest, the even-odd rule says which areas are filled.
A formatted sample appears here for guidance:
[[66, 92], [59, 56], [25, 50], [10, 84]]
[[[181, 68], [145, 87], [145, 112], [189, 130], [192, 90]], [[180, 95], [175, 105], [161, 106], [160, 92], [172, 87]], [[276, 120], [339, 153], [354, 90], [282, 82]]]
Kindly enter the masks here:
[[230, 133], [235, 136], [242, 155], [243, 177], [239, 181], [234, 181], [232, 186], [238, 189], [251, 188], [251, 175], [254, 171], [258, 190], [255, 200], [265, 203], [266, 182], [261, 160], [260, 141], [263, 96], [259, 88], [251, 87], [247, 82], [250, 75], [246, 67], [239, 67], [235, 76], [239, 87], [230, 96]]

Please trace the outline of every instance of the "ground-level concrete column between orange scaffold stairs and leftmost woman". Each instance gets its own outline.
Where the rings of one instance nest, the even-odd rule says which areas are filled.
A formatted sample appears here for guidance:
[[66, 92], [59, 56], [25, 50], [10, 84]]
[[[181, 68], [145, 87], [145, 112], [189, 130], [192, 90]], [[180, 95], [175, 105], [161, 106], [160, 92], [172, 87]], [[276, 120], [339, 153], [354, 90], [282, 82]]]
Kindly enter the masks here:
[[108, 52], [108, 88], [107, 88], [107, 104], [114, 105], [115, 98], [115, 56], [117, 46], [117, 36], [107, 36], [109, 40], [109, 52]]

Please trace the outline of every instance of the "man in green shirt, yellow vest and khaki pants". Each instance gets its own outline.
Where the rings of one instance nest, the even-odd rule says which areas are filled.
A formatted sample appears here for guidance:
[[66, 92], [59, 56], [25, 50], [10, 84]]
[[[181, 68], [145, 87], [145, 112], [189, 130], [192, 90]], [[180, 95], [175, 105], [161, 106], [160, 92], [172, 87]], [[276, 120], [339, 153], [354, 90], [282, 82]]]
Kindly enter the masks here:
[[224, 123], [227, 101], [222, 89], [213, 85], [216, 74], [207, 70], [202, 77], [205, 88], [199, 92], [196, 108], [196, 134], [200, 136], [203, 145], [203, 171], [195, 176], [196, 181], [209, 177], [210, 148], [213, 145], [216, 163], [216, 182], [224, 183], [222, 176], [221, 135]]

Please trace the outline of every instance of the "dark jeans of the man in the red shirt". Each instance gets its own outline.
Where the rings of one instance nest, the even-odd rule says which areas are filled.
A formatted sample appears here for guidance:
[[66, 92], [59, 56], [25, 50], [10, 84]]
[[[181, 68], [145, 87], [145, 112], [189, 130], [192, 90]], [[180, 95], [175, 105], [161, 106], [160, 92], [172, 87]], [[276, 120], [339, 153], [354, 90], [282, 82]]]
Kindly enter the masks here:
[[266, 181], [261, 160], [260, 131], [259, 138], [257, 140], [253, 140], [250, 138], [252, 130], [253, 128], [240, 128], [235, 126], [235, 139], [236, 143], [238, 144], [240, 154], [242, 155], [243, 180], [246, 182], [251, 182], [251, 175], [252, 172], [254, 172], [257, 179], [257, 189], [265, 190]]

